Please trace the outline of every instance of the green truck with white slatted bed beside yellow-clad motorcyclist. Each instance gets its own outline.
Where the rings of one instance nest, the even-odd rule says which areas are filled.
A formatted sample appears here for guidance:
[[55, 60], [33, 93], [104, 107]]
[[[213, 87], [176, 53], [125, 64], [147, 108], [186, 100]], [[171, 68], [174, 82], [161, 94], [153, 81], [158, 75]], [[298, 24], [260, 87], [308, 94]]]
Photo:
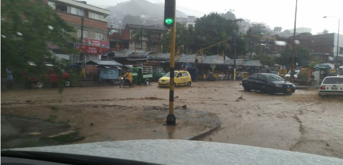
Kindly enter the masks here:
[[153, 66], [131, 67], [130, 70], [135, 84], [149, 85], [153, 79]]

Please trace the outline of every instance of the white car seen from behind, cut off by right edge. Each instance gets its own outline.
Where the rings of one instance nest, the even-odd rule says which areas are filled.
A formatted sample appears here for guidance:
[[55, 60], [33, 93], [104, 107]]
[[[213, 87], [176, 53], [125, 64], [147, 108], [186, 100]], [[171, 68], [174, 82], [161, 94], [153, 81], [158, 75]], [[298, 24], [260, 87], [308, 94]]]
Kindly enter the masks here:
[[343, 96], [343, 77], [326, 77], [319, 87], [319, 96], [342, 95]]

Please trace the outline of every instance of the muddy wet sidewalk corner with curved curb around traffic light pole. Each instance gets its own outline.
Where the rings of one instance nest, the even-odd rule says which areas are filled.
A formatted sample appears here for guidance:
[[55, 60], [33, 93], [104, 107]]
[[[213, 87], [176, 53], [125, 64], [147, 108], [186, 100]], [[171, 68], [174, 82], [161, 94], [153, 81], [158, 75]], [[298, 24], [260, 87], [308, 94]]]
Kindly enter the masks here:
[[[11, 115], [13, 112], [16, 115]], [[176, 126], [166, 126], [167, 105], [60, 105], [53, 109], [49, 106], [35, 106], [34, 109], [32, 106], [5, 106], [1, 113], [1, 132], [13, 137], [2, 142], [8, 148], [132, 139], [196, 140], [220, 127], [218, 116], [182, 107], [174, 109]], [[70, 135], [66, 137], [66, 134]], [[69, 142], [69, 139], [73, 140]], [[22, 146], [32, 140], [35, 142], [32, 146]]]

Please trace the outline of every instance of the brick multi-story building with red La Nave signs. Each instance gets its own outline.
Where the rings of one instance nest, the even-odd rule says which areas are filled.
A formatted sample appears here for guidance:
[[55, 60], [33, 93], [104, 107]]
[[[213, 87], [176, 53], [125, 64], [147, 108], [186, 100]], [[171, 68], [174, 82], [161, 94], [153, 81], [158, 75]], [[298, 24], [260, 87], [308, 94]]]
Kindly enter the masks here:
[[76, 29], [72, 35], [79, 39], [79, 42], [74, 43], [74, 46], [81, 52], [68, 55], [60, 52], [57, 46], [50, 46], [53, 55], [76, 62], [99, 60], [101, 55], [108, 53], [108, 23], [104, 21], [104, 18], [110, 15], [109, 10], [88, 5], [84, 1], [46, 1], [63, 20]]

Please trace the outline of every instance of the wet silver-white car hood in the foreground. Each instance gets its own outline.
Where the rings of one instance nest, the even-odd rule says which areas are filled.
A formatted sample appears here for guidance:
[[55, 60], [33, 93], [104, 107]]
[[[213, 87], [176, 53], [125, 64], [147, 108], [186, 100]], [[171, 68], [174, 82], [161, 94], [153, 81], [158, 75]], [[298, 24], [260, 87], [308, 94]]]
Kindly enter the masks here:
[[343, 164], [343, 159], [195, 140], [126, 140], [10, 149], [120, 158], [158, 164]]

